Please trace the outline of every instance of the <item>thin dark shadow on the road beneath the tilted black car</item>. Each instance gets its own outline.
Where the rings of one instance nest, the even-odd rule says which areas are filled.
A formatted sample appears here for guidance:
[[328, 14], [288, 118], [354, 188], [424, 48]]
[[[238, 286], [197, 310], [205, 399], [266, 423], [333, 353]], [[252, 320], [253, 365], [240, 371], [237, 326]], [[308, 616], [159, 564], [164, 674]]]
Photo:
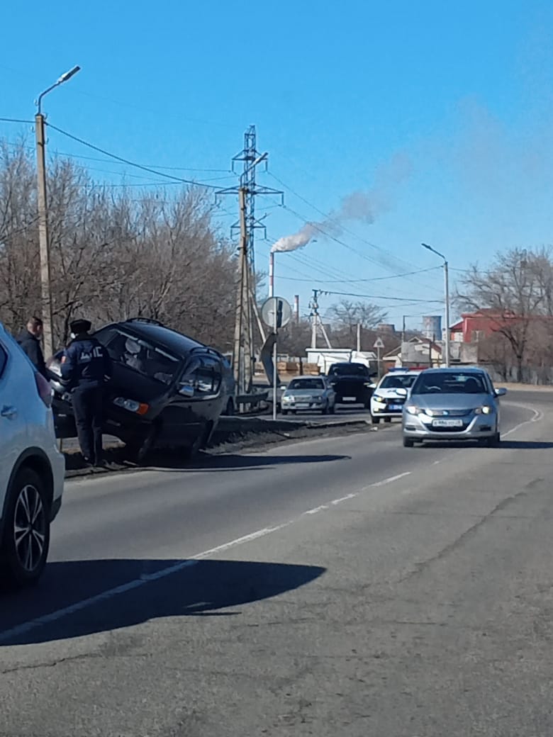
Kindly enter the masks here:
[[243, 469], [270, 468], [271, 466], [288, 466], [291, 464], [329, 463], [331, 461], [349, 461], [350, 455], [209, 455], [201, 453], [193, 461], [178, 458], [175, 453], [152, 453], [147, 459], [148, 467], [156, 470], [183, 471], [240, 471]]

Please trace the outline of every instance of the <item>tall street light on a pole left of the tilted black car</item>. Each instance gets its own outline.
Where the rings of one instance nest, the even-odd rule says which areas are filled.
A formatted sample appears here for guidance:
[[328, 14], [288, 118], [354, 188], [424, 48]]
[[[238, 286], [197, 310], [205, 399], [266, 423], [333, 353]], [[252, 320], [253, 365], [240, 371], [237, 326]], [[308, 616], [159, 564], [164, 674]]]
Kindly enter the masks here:
[[42, 321], [44, 326], [44, 354], [46, 358], [54, 353], [52, 338], [52, 294], [50, 290], [50, 248], [48, 240], [48, 207], [46, 203], [46, 136], [44, 135], [44, 115], [42, 114], [42, 99], [59, 85], [70, 80], [77, 74], [80, 66], [74, 66], [56, 80], [49, 88], [39, 94], [35, 115], [35, 139], [37, 161], [37, 201], [38, 201], [38, 243], [41, 251], [41, 295]]

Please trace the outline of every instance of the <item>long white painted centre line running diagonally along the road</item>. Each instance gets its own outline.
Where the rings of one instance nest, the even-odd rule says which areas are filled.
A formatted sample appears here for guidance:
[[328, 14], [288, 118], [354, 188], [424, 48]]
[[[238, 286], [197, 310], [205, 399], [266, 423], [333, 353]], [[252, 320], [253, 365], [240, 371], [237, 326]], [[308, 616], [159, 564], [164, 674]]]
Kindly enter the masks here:
[[[399, 481], [400, 478], [405, 478], [408, 475], [411, 475], [411, 471], [399, 473], [396, 476], [390, 476], [389, 478], [383, 479], [383, 481], [376, 481], [375, 483], [369, 484], [369, 486], [366, 486], [364, 489], [361, 489], [361, 491], [374, 489], [378, 486], [386, 486], [386, 484], [393, 483], [394, 481]], [[18, 624], [11, 629], [4, 629], [3, 632], [0, 632], [0, 642], [13, 639], [15, 637], [18, 637], [18, 635], [24, 635], [27, 632], [30, 632], [32, 629], [36, 629], [37, 627], [40, 627], [44, 624], [52, 624], [52, 622], [58, 621], [59, 619], [62, 619], [63, 617], [66, 617], [68, 615], [72, 615], [75, 612], [79, 612], [81, 609], [86, 609], [87, 607], [94, 606], [94, 604], [98, 604], [101, 601], [106, 601], [107, 599], [118, 596], [119, 594], [127, 593], [128, 591], [144, 586], [151, 581], [159, 581], [159, 579], [164, 579], [167, 576], [173, 576], [174, 573], [179, 573], [181, 570], [184, 570], [184, 568], [189, 568], [197, 565], [202, 559], [215, 555], [215, 553], [221, 553], [223, 551], [229, 550], [229, 548], [234, 548], [237, 545], [243, 545], [245, 542], [251, 542], [251, 540], [265, 537], [265, 535], [270, 535], [273, 532], [277, 532], [286, 527], [289, 527], [290, 525], [293, 525], [293, 523], [298, 522], [305, 514], [316, 514], [319, 511], [330, 509], [331, 504], [339, 504], [343, 501], [358, 496], [360, 493], [361, 492], [347, 494], [344, 497], [334, 499], [328, 504], [322, 504], [321, 506], [314, 507], [313, 509], [308, 509], [307, 511], [300, 514], [299, 517], [294, 517], [292, 520], [288, 520], [288, 522], [282, 523], [281, 525], [275, 525], [274, 527], [264, 527], [261, 530], [256, 530], [255, 532], [243, 535], [242, 537], [237, 537], [230, 542], [223, 543], [223, 545], [218, 545], [215, 548], [209, 548], [209, 550], [203, 551], [201, 553], [196, 553], [195, 556], [192, 556], [187, 560], [173, 563], [173, 565], [168, 565], [165, 568], [161, 568], [161, 570], [156, 570], [154, 573], [144, 573], [142, 574], [142, 576], [140, 576], [139, 579], [133, 579], [133, 581], [128, 581], [127, 583], [121, 584], [120, 586], [102, 591], [99, 594], [89, 596], [86, 599], [81, 599], [81, 601], [76, 601], [74, 604], [70, 604], [69, 607], [56, 609], [55, 612], [49, 612], [49, 614], [45, 614], [41, 617], [37, 617], [22, 624]]]

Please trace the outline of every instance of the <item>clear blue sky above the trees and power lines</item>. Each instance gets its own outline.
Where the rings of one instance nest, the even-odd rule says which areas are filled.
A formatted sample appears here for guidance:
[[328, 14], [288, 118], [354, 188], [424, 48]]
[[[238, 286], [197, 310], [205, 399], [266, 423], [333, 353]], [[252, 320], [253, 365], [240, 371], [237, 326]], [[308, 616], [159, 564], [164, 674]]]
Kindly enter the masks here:
[[[132, 161], [183, 167], [178, 175], [221, 186], [232, 186], [225, 170], [253, 123], [270, 155], [260, 183], [279, 188], [276, 176], [286, 185], [286, 209], [275, 207], [278, 199], [257, 203], [270, 241], [376, 188], [374, 222], [348, 221], [338, 236], [349, 249], [317, 237], [278, 255], [277, 292], [299, 293], [303, 311], [313, 287], [428, 300], [374, 300], [393, 321], [408, 314], [417, 325], [417, 315], [441, 310], [432, 302], [442, 297], [439, 270], [353, 280], [439, 265], [421, 241], [448, 256], [453, 277], [501, 249], [552, 242], [549, 2], [14, 6], [3, 11], [0, 116], [31, 119], [38, 92], [78, 63], [82, 71], [46, 99], [52, 124]], [[32, 140], [29, 131], [0, 123], [10, 140], [22, 132]], [[49, 147], [94, 156], [52, 131]], [[407, 165], [394, 178], [398, 157]], [[98, 180], [156, 179], [115, 163], [88, 165]], [[221, 227], [235, 206], [225, 201]], [[270, 245], [257, 243], [259, 268], [267, 268]], [[337, 300], [322, 296], [321, 309]]]

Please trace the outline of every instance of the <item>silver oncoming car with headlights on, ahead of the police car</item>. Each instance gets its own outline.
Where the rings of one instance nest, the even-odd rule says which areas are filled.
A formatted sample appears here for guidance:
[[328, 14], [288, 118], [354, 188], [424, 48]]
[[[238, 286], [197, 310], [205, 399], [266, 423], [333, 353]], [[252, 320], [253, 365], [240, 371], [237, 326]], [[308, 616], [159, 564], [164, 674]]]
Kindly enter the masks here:
[[403, 445], [477, 440], [494, 447], [500, 441], [498, 398], [505, 394], [481, 368], [422, 371], [403, 407]]

